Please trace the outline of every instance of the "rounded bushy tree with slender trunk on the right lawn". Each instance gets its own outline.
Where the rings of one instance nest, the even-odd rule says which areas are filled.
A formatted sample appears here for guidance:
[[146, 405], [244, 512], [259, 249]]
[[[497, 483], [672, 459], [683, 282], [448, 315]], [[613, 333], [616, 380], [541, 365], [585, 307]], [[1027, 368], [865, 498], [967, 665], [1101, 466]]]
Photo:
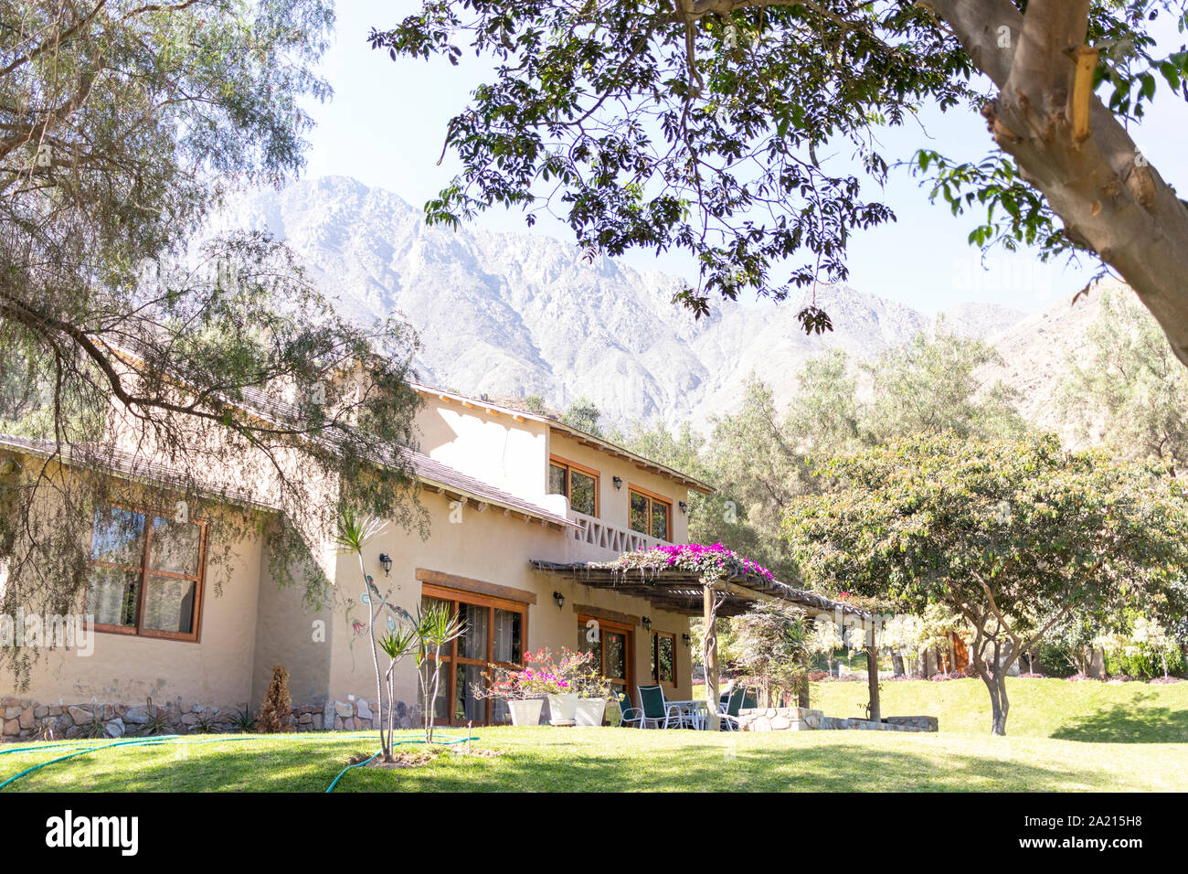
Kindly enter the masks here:
[[1053, 436], [952, 434], [834, 459], [843, 485], [789, 511], [814, 583], [956, 611], [1006, 732], [1006, 674], [1069, 616], [1099, 627], [1127, 604], [1168, 617], [1188, 603], [1188, 495], [1159, 464], [1068, 452]]

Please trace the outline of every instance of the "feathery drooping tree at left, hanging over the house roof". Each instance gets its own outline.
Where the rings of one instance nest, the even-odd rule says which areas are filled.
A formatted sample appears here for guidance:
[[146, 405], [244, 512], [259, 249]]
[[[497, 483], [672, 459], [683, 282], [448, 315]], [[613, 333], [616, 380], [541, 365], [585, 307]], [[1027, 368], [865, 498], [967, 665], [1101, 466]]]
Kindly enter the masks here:
[[392, 449], [413, 338], [345, 322], [284, 246], [207, 222], [302, 166], [331, 24], [326, 0], [2, 5], [0, 416], [24, 446], [0, 458], [0, 611], [76, 606], [103, 504], [202, 514], [213, 546], [279, 509], [277, 573], [314, 598], [304, 535], [340, 505], [419, 520]]

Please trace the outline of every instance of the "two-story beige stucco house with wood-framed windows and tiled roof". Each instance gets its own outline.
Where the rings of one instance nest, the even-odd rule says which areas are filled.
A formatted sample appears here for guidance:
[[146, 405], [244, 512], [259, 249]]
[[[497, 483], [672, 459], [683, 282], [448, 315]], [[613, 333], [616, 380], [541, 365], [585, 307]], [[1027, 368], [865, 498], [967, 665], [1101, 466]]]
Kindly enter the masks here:
[[[368, 543], [364, 562], [410, 614], [432, 599], [466, 620], [466, 633], [443, 654], [438, 719], [506, 721], [506, 708], [476, 697], [474, 685], [487, 665], [518, 665], [542, 647], [590, 649], [617, 685], [659, 683], [671, 698], [691, 697], [687, 616], [531, 562], [604, 561], [684, 542], [689, 492], [710, 488], [562, 422], [416, 389], [424, 405], [413, 466], [430, 533], [422, 539], [390, 524]], [[46, 448], [5, 438], [5, 454], [36, 457]], [[131, 539], [112, 540], [116, 521], [125, 532], [131, 524]], [[108, 721], [109, 734], [131, 731], [147, 697], [168, 706], [178, 728], [226, 727], [235, 709], [259, 705], [274, 665], [289, 671], [299, 729], [371, 725], [375, 686], [369, 641], [356, 624], [368, 614], [358, 559], [310, 545], [337, 595], [311, 609], [301, 592], [277, 585], [263, 537], [240, 535], [229, 545], [219, 537], [216, 526], [178, 522], [153, 508], [97, 510], [86, 604], [93, 652], [53, 649], [40, 658], [27, 691], [19, 699], [5, 693], [2, 734], [27, 736], [45, 721], [70, 734], [88, 713]], [[216, 546], [230, 555], [217, 593], [204, 567]], [[397, 672], [397, 712], [407, 725], [422, 704], [411, 660]]]

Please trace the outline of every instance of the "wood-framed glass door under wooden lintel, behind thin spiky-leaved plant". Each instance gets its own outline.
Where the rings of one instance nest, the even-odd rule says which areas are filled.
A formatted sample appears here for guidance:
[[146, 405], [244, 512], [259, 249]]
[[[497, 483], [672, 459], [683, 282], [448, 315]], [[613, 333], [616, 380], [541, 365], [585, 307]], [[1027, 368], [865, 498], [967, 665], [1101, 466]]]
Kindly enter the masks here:
[[474, 687], [487, 685], [482, 673], [488, 664], [503, 667], [523, 664], [525, 605], [431, 585], [423, 585], [421, 591], [423, 606], [444, 604], [466, 622], [462, 636], [441, 654], [435, 718], [450, 725], [510, 722], [505, 702], [478, 697]]

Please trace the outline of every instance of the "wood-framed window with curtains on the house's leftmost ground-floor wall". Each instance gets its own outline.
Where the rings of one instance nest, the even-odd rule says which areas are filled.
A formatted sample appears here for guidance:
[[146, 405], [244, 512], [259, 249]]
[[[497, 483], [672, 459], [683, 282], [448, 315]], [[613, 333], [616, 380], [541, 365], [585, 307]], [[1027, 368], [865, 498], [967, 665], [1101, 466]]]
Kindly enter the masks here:
[[115, 634], [197, 641], [206, 524], [122, 507], [95, 511], [86, 610]]

